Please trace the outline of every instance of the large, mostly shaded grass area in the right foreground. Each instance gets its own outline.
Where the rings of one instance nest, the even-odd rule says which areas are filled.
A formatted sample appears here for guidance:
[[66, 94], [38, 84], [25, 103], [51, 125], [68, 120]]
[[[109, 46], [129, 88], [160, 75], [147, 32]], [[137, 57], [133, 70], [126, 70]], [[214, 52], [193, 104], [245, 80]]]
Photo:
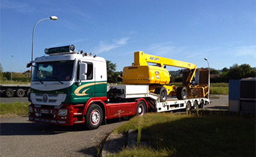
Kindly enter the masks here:
[[141, 139], [152, 147], [125, 148], [113, 156], [255, 156], [255, 117], [147, 113], [115, 133], [138, 131], [139, 121], [143, 121]]

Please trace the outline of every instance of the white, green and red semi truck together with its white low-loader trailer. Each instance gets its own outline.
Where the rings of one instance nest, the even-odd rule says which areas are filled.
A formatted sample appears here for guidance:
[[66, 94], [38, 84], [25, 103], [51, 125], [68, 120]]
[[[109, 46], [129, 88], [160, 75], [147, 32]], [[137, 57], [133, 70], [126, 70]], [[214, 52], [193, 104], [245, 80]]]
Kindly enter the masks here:
[[[161, 101], [160, 93], [153, 92], [150, 84], [115, 85], [107, 91], [103, 57], [76, 51], [74, 45], [48, 48], [44, 53], [27, 64], [32, 66], [30, 121], [84, 124], [88, 129], [97, 129], [104, 119], [144, 115], [149, 111], [190, 110], [210, 103], [205, 96], [178, 100], [174, 94]], [[196, 80], [204, 80], [200, 74], [196, 74]]]

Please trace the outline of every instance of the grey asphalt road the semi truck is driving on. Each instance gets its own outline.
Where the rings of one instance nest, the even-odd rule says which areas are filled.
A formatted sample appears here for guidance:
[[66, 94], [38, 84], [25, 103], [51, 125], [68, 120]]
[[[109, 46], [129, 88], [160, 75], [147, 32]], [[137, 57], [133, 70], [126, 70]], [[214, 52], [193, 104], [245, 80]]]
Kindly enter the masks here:
[[[212, 98], [211, 101], [212, 104], [205, 106], [204, 110], [228, 109], [228, 96]], [[0, 155], [97, 156], [99, 143], [125, 122], [114, 119], [90, 131], [82, 125], [62, 127], [34, 123], [28, 121], [28, 117], [0, 118]]]

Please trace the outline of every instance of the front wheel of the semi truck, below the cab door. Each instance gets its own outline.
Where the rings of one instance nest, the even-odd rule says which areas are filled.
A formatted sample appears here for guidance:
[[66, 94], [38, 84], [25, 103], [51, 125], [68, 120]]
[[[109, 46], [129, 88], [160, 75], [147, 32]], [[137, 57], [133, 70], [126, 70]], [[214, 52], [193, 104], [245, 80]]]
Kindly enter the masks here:
[[103, 111], [97, 104], [91, 104], [86, 114], [86, 125], [88, 129], [97, 129], [103, 121]]

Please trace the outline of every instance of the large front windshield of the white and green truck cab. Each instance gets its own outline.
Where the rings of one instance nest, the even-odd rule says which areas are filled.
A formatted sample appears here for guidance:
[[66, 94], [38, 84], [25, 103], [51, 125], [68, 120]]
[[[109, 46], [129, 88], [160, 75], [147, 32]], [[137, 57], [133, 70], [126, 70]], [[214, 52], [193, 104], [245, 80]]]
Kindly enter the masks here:
[[71, 80], [74, 61], [52, 61], [35, 63], [32, 81], [64, 81]]

